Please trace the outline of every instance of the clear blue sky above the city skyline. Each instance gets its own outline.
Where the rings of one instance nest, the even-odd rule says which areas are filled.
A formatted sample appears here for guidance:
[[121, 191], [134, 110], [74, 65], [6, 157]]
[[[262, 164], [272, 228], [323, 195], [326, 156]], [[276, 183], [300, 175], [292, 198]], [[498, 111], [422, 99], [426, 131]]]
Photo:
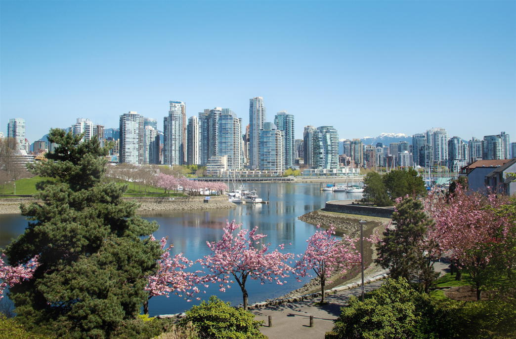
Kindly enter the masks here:
[[[516, 2], [0, 1], [0, 131], [33, 143], [89, 118], [118, 127], [264, 98], [339, 138], [445, 128], [516, 141]], [[245, 131], [245, 129], [243, 130]]]

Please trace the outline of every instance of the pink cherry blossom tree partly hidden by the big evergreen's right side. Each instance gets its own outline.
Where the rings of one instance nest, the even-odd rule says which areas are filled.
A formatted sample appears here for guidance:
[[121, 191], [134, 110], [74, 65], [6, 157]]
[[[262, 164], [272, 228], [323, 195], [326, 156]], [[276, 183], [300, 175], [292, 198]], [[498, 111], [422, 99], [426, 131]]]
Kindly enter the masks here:
[[[145, 290], [149, 292], [149, 298], [143, 303], [144, 314], [149, 314], [149, 300], [154, 296], [166, 295], [168, 298], [173, 292], [180, 297], [184, 294], [185, 300], [191, 301], [188, 297], [191, 298], [194, 293], [199, 292], [195, 285], [201, 282], [200, 277], [196, 273], [184, 270], [186, 267], [191, 267], [193, 262], [183, 257], [183, 253], [172, 256], [170, 250], [174, 245], [170, 244], [166, 248], [167, 238], [162, 238], [160, 241], [160, 247], [164, 251], [157, 261], [157, 272], [147, 278], [148, 284]], [[151, 236], [151, 239], [156, 240], [154, 236]], [[197, 299], [200, 300], [200, 298]]]

